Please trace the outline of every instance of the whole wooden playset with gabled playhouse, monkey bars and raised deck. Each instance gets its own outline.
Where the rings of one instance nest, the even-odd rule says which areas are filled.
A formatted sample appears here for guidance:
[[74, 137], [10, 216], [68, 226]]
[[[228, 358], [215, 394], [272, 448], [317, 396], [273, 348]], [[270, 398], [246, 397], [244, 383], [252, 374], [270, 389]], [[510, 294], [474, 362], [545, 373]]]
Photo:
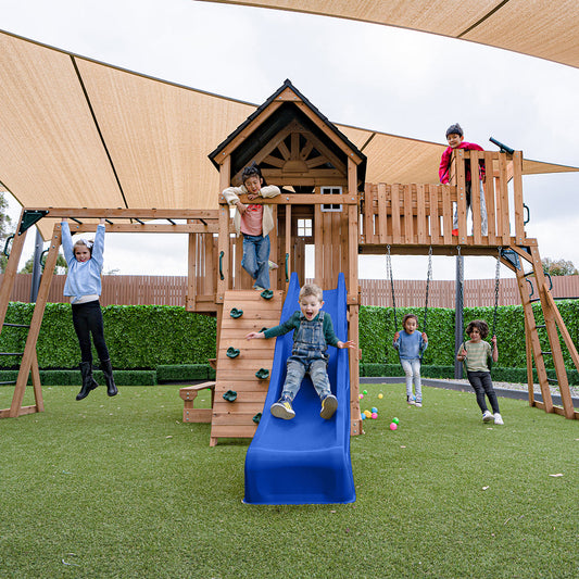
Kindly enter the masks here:
[[[515, 151], [458, 150], [453, 159], [451, 185], [365, 182], [366, 156], [287, 80], [264, 104], [227, 137], [210, 159], [219, 172], [219, 189], [240, 185], [246, 165], [260, 164], [268, 184], [281, 194], [264, 202], [274, 206], [275, 230], [270, 234], [270, 259], [279, 264], [272, 272], [274, 297], [263, 299], [251, 289], [252, 279], [242, 270], [242, 240], [236, 238], [231, 212], [218, 192], [216, 210], [127, 209], [24, 209], [12, 243], [0, 288], [0, 322], [5, 319], [10, 294], [27, 229], [39, 218], [70, 217], [72, 231], [93, 231], [95, 221], [105, 217], [108, 231], [177, 232], [189, 236], [186, 309], [216, 316], [217, 356], [214, 382], [182, 388], [184, 420], [211, 421], [211, 444], [221, 438], [251, 438], [268, 387], [274, 340], [243, 337], [252, 330], [279, 323], [285, 291], [292, 272], [305, 279], [306, 246], [313, 246], [314, 278], [324, 289], [335, 288], [338, 274], [348, 288], [349, 339], [358, 342], [360, 254], [500, 255], [515, 272], [525, 312], [529, 403], [566, 418], [578, 418], [572, 407], [563, 349], [579, 368], [579, 355], [553, 300], [536, 239], [525, 231], [523, 154]], [[489, 231], [480, 232], [478, 196], [473, 196], [473, 234], [468, 235], [465, 198], [467, 165], [483, 162]], [[207, 192], [207, 194], [213, 194]], [[242, 199], [243, 200], [243, 199]], [[247, 200], [243, 200], [247, 201]], [[454, 205], [458, 211], [458, 236], [452, 236]], [[151, 223], [156, 219], [161, 223]], [[28, 329], [21, 369], [10, 408], [0, 417], [41, 412], [42, 393], [36, 358], [36, 340], [42, 320], [54, 263], [60, 247], [60, 223], [48, 251], [38, 299]], [[527, 266], [525, 272], [524, 265]], [[540, 299], [544, 324], [538, 325], [529, 295], [531, 276]], [[298, 304], [295, 304], [298, 306]], [[242, 315], [238, 315], [239, 312]], [[544, 332], [550, 350], [541, 339]], [[344, 339], [345, 337], [342, 337]], [[259, 343], [255, 343], [259, 342]], [[358, 405], [358, 352], [350, 350], [351, 428], [362, 431]], [[563, 404], [553, 405], [544, 360], [552, 356]], [[533, 364], [534, 362], [534, 364]], [[542, 402], [532, 391], [533, 365], [541, 385]], [[23, 407], [32, 373], [36, 404]], [[196, 408], [199, 391], [211, 390], [212, 408]]]

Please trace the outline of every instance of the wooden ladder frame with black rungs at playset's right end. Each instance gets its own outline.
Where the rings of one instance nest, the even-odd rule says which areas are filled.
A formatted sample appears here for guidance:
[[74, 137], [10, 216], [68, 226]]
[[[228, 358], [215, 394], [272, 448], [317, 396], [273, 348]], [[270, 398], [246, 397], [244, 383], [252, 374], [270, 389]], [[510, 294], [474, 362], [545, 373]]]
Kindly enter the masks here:
[[[527, 259], [531, 265], [532, 270], [527, 274], [533, 274], [537, 282], [537, 290], [539, 293], [539, 300], [541, 302], [541, 309], [543, 312], [544, 324], [537, 324], [534, 313], [532, 310], [532, 303], [537, 300], [531, 300], [529, 294], [529, 285], [527, 284], [527, 275], [523, 268], [516, 268], [515, 274], [517, 276], [517, 284], [520, 293], [520, 300], [523, 302], [523, 310], [525, 313], [525, 335], [527, 345], [527, 382], [529, 385], [529, 404], [543, 408], [547, 413], [556, 413], [565, 416], [566, 418], [579, 418], [579, 412], [572, 407], [572, 399], [569, 390], [569, 380], [567, 378], [567, 372], [565, 369], [565, 362], [563, 357], [563, 349], [559, 341], [559, 335], [563, 338], [567, 350], [571, 356], [575, 366], [579, 369], [579, 355], [577, 349], [572, 343], [569, 331], [565, 326], [565, 322], [561, 316], [555, 300], [551, 294], [550, 289], [546, 287], [545, 275], [543, 273], [543, 266], [541, 257], [539, 255], [539, 249], [537, 246], [531, 246], [530, 256], [525, 252], [517, 251], [517, 253]], [[541, 332], [546, 331], [549, 338], [550, 350], [544, 350], [541, 344]], [[543, 340], [544, 343], [544, 340]], [[553, 358], [553, 364], [556, 373], [556, 380], [547, 377], [545, 358]], [[534, 400], [533, 393], [533, 367], [532, 361], [534, 360], [534, 366], [537, 368], [537, 375], [539, 378], [539, 385], [541, 387], [541, 394], [543, 402]], [[561, 400], [563, 407], [555, 406], [551, 398], [550, 381], [556, 382], [561, 392]]]

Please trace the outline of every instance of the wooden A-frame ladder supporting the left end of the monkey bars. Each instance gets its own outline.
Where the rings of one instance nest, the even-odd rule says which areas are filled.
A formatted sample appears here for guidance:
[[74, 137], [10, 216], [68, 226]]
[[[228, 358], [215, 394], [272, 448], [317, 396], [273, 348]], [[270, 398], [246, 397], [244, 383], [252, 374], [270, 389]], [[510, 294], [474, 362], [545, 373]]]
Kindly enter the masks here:
[[[22, 221], [22, 219], [21, 219]], [[5, 316], [8, 311], [8, 304], [10, 295], [14, 288], [16, 279], [16, 273], [18, 262], [22, 255], [24, 241], [26, 240], [27, 228], [20, 227], [18, 232], [14, 236], [12, 242], [12, 250], [8, 260], [4, 277], [2, 279], [2, 286], [0, 287], [0, 332], [5, 324]], [[18, 370], [18, 377], [16, 378], [14, 394], [12, 397], [12, 404], [10, 408], [0, 410], [0, 418], [15, 418], [24, 414], [33, 414], [36, 412], [43, 412], [45, 403], [42, 400], [42, 387], [40, 383], [40, 373], [38, 369], [38, 358], [36, 356], [36, 342], [38, 341], [38, 335], [40, 332], [40, 325], [42, 324], [42, 316], [48, 300], [48, 292], [50, 289], [50, 282], [54, 273], [54, 266], [56, 265], [56, 257], [59, 255], [59, 248], [61, 244], [61, 230], [60, 223], [54, 226], [50, 248], [45, 262], [45, 270], [40, 280], [40, 287], [38, 289], [38, 295], [36, 298], [36, 305], [30, 320], [28, 329], [28, 336], [26, 337], [26, 344], [24, 352], [22, 353], [21, 367]], [[24, 393], [26, 391], [26, 385], [28, 382], [28, 376], [32, 374], [33, 388], [35, 395], [35, 404], [23, 406]]]

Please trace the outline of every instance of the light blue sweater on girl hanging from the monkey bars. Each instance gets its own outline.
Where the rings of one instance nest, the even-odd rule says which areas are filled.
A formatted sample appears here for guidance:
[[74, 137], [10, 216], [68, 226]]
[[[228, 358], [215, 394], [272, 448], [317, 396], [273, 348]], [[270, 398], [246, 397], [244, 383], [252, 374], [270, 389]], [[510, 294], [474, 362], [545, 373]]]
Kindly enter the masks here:
[[75, 298], [92, 294], [100, 295], [104, 251], [104, 225], [99, 224], [97, 227], [95, 244], [92, 246], [92, 256], [84, 263], [78, 262], [74, 256], [73, 238], [71, 236], [71, 228], [66, 222], [62, 222], [61, 230], [62, 249], [64, 251], [64, 259], [68, 265], [68, 275], [64, 284], [64, 295]]

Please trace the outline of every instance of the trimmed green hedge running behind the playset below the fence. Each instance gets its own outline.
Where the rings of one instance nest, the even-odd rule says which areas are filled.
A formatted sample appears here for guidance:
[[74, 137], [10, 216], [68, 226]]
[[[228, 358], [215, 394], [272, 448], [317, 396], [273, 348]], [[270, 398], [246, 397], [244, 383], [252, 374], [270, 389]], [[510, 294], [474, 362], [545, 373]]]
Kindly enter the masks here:
[[[579, 343], [579, 300], [557, 301], [561, 315], [575, 343]], [[537, 324], [543, 323], [541, 306], [533, 304]], [[7, 312], [7, 323], [29, 324], [34, 304], [11, 302]], [[418, 317], [418, 326], [424, 323], [424, 307], [397, 309], [362, 306], [360, 309], [360, 348], [362, 366], [366, 376], [400, 375], [398, 352], [392, 347], [397, 329], [401, 329], [402, 318], [413, 313]], [[430, 307], [427, 316], [428, 349], [424, 355], [424, 372], [431, 376], [446, 376], [445, 367], [454, 366], [454, 310]], [[464, 318], [493, 322], [493, 307], [465, 307]], [[159, 381], [212, 379], [214, 370], [207, 360], [216, 355], [216, 319], [202, 314], [186, 312], [184, 307], [166, 305], [109, 305], [103, 307], [104, 332], [114, 368], [144, 369], [156, 372]], [[71, 305], [47, 304], [37, 344], [38, 364], [41, 368], [77, 368], [79, 362], [78, 342], [72, 324]], [[398, 326], [398, 327], [397, 327]], [[541, 331], [543, 350], [551, 350], [546, 331]], [[1, 352], [22, 352], [26, 330], [4, 327], [0, 335]], [[493, 377], [501, 381], [526, 381], [525, 378], [499, 378], [502, 370], [516, 370], [519, 376], [527, 365], [525, 347], [525, 318], [523, 306], [501, 306], [496, 312], [496, 335], [499, 338], [499, 364], [493, 368]], [[572, 360], [563, 344], [565, 364], [574, 368]], [[93, 352], [95, 361], [97, 353]], [[20, 357], [0, 356], [0, 368], [17, 369]], [[552, 358], [545, 360], [547, 368], [553, 368]], [[374, 365], [374, 366], [373, 366]], [[387, 365], [378, 370], [375, 365]], [[201, 367], [197, 367], [201, 366]], [[397, 369], [388, 369], [394, 366]], [[206, 374], [205, 374], [206, 373]], [[368, 373], [368, 374], [366, 374]], [[387, 373], [387, 374], [385, 374]], [[576, 380], [577, 372], [569, 370], [569, 380]], [[504, 376], [509, 376], [508, 373]], [[63, 382], [61, 382], [63, 383]], [[576, 383], [576, 382], [571, 382]]]

